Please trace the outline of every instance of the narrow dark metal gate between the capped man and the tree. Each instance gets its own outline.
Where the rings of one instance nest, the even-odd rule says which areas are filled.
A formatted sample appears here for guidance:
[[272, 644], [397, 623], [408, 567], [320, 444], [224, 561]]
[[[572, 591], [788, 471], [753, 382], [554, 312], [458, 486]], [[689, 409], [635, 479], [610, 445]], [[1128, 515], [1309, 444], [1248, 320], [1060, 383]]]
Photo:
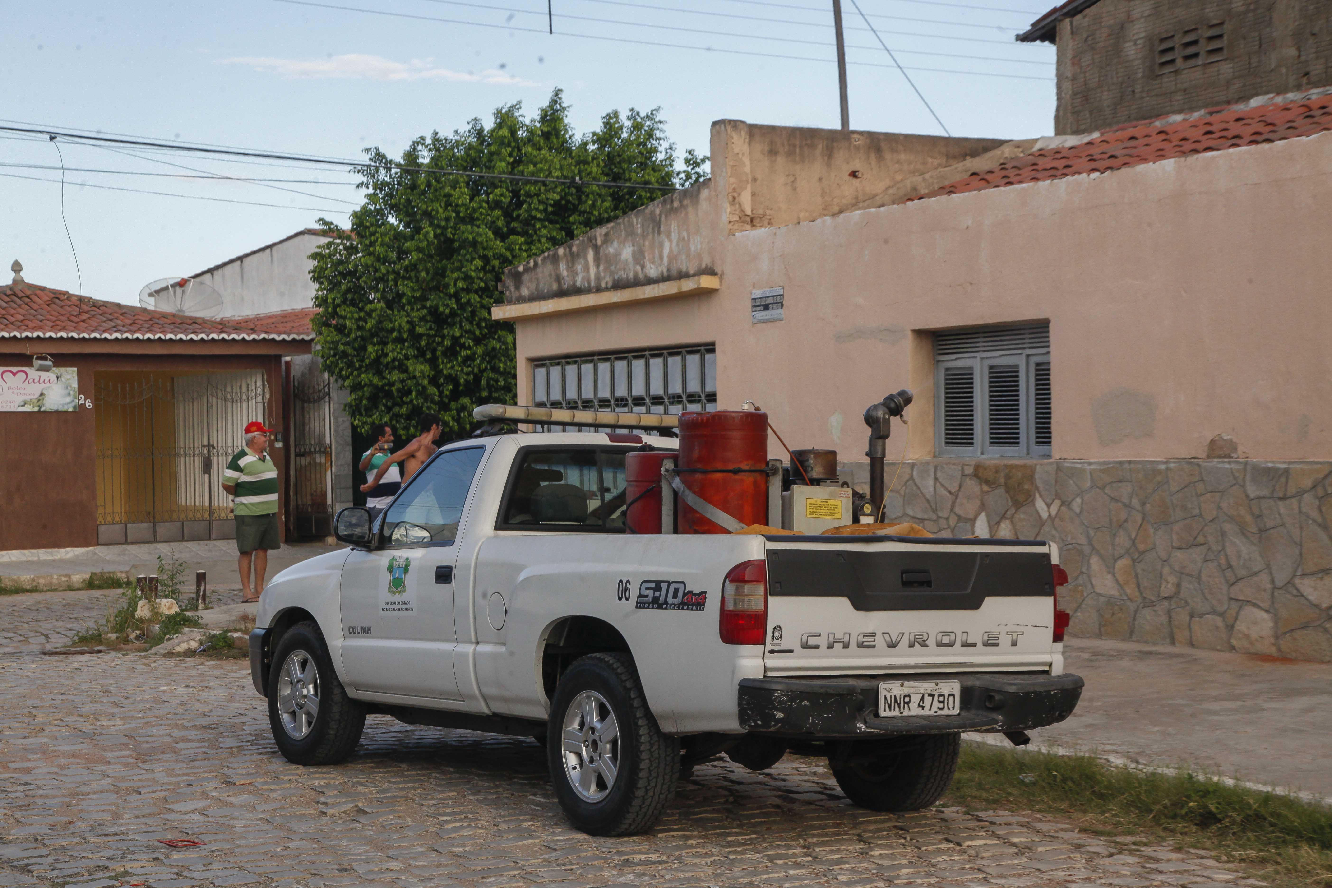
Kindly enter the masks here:
[[333, 533], [333, 386], [324, 374], [292, 383], [292, 502], [296, 537]]

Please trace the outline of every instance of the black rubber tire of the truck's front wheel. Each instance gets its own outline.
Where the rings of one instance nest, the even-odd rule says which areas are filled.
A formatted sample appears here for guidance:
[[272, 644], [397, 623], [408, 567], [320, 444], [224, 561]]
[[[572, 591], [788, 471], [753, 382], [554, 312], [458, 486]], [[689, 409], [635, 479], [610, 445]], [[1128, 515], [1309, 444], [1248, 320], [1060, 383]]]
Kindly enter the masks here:
[[[296, 658], [293, 660], [293, 658]], [[292, 694], [284, 690], [284, 684], [290, 686], [290, 675], [284, 672], [288, 662], [298, 664], [305, 658], [305, 668], [314, 667], [314, 680], [317, 688], [317, 707], [313, 714], [306, 712], [301, 720], [300, 712], [290, 712], [294, 731], [284, 724], [282, 711]], [[308, 675], [308, 672], [305, 672]], [[286, 698], [280, 700], [280, 695]], [[308, 695], [297, 695], [304, 703]], [[312, 716], [312, 718], [310, 718]], [[361, 731], [365, 728], [365, 706], [346, 695], [346, 690], [333, 671], [333, 660], [329, 659], [329, 648], [324, 642], [324, 634], [313, 622], [297, 623], [289, 628], [277, 642], [273, 651], [273, 668], [268, 676], [268, 724], [273, 731], [273, 742], [277, 743], [282, 758], [293, 764], [337, 764], [345, 762], [356, 744], [361, 742]], [[301, 730], [305, 734], [301, 735]]]

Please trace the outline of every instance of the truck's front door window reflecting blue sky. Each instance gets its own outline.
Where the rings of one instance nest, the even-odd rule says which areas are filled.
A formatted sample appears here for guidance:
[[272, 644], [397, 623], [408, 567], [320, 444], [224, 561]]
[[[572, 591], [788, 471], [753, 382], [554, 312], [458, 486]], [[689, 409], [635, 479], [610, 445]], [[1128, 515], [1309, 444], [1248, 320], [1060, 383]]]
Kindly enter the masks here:
[[389, 546], [452, 543], [484, 453], [485, 447], [446, 450], [426, 463], [384, 514], [382, 539]]

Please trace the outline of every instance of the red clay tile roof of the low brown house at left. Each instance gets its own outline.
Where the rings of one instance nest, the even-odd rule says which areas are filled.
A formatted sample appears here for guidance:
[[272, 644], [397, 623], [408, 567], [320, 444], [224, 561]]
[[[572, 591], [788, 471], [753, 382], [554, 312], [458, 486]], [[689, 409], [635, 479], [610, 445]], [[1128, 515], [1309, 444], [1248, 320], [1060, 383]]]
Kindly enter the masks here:
[[[284, 313], [290, 314], [290, 313]], [[21, 339], [313, 339], [286, 321], [268, 329], [250, 321], [212, 321], [93, 300], [36, 284], [0, 286], [0, 338]]]

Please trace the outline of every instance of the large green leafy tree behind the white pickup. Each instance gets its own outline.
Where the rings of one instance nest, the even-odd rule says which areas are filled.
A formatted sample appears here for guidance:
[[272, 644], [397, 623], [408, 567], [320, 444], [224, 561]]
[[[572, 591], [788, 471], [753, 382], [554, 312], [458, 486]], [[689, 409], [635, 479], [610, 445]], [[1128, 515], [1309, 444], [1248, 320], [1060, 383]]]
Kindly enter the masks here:
[[321, 220], [333, 240], [310, 272], [318, 354], [362, 433], [373, 422], [413, 430], [429, 410], [461, 437], [476, 406], [511, 403], [513, 325], [490, 320], [503, 269], [665, 193], [421, 170], [682, 186], [706, 174], [693, 152], [675, 168], [659, 111], [610, 112], [579, 136], [559, 91], [531, 118], [505, 105], [489, 126], [414, 140], [397, 162], [366, 153], [365, 202], [348, 230]]

